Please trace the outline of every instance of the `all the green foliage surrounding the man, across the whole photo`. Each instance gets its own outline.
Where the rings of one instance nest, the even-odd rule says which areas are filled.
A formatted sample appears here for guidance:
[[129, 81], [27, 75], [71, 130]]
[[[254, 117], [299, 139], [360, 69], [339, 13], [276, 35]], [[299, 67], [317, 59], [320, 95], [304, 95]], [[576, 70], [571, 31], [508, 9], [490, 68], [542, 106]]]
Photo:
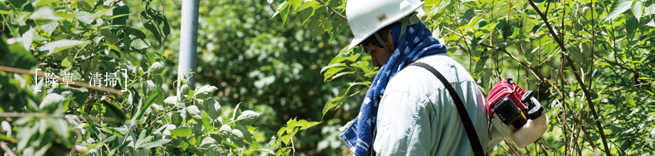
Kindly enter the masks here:
[[[201, 1], [196, 84], [176, 91], [180, 2], [1, 1], [1, 66], [80, 82], [127, 69], [110, 87], [127, 91], [0, 72], [0, 111], [21, 116], [0, 117], [0, 139], [26, 155], [347, 155], [338, 129], [377, 69], [343, 48], [345, 1]], [[430, 0], [419, 13], [483, 92], [514, 77], [546, 106], [542, 140], [492, 155], [651, 155], [654, 1], [533, 2]]]

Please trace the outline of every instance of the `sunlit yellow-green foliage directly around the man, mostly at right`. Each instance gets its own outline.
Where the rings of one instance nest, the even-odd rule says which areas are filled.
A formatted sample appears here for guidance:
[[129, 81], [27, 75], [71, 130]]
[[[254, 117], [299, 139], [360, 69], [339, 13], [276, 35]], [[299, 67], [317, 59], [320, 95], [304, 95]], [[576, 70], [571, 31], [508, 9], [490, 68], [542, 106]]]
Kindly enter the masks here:
[[[335, 17], [344, 13], [345, 1], [320, 2], [277, 1], [274, 6], [285, 23], [293, 23], [285, 16], [298, 14], [304, 18], [296, 22], [308, 30], [342, 32], [344, 28], [335, 23], [346, 22]], [[483, 92], [503, 77], [514, 77], [524, 89], [537, 91], [547, 108], [550, 129], [542, 140], [526, 149], [503, 143], [492, 155], [652, 155], [653, 4], [652, 0], [430, 0], [419, 16], [433, 30], [433, 37], [449, 46], [449, 55], [468, 67]], [[305, 5], [311, 7], [295, 7]], [[330, 16], [304, 16], [315, 13]], [[347, 61], [358, 53], [342, 50], [323, 64], [324, 82], [352, 82], [327, 101], [323, 114], [347, 104], [343, 99], [363, 96], [349, 93], [353, 84], [372, 77], [360, 72], [373, 69], [367, 60]]]

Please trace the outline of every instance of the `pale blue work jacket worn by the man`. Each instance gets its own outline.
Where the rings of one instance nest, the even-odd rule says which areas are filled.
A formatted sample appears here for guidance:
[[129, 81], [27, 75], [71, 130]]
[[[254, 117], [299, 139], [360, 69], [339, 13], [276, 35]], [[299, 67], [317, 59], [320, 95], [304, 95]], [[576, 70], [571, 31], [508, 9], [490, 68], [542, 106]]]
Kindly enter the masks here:
[[[448, 79], [463, 97], [481, 145], [487, 145], [485, 99], [471, 74], [445, 53], [417, 61], [431, 65]], [[373, 142], [377, 155], [473, 155], [451, 94], [434, 74], [407, 66], [385, 90]]]

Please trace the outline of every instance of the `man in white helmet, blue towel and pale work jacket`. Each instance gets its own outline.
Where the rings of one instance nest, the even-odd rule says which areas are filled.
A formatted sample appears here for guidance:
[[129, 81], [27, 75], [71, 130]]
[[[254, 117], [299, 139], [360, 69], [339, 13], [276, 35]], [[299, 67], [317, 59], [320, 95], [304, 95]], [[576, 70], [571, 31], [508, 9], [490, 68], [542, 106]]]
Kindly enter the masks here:
[[[355, 35], [348, 48], [364, 48], [379, 67], [357, 118], [340, 135], [353, 155], [473, 155], [476, 149], [453, 98], [465, 105], [478, 145], [487, 145], [483, 94], [471, 74], [446, 55], [446, 45], [416, 18], [423, 5], [420, 0], [347, 1]], [[434, 67], [461, 97], [452, 97], [434, 74], [412, 62]]]

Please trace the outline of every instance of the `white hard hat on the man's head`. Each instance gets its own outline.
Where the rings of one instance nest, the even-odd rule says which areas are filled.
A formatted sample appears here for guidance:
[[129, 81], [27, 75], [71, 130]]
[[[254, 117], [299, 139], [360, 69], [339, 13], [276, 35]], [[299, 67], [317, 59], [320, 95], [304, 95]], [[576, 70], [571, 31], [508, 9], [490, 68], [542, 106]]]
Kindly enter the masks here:
[[[346, 17], [355, 38], [348, 49], [362, 43], [377, 30], [414, 13], [425, 2], [420, 0], [350, 0], [346, 4]], [[404, 28], [403, 28], [404, 29]], [[404, 33], [404, 32], [402, 32]], [[402, 35], [401, 35], [402, 37]], [[380, 39], [378, 39], [380, 40]], [[386, 45], [382, 44], [386, 49]]]

